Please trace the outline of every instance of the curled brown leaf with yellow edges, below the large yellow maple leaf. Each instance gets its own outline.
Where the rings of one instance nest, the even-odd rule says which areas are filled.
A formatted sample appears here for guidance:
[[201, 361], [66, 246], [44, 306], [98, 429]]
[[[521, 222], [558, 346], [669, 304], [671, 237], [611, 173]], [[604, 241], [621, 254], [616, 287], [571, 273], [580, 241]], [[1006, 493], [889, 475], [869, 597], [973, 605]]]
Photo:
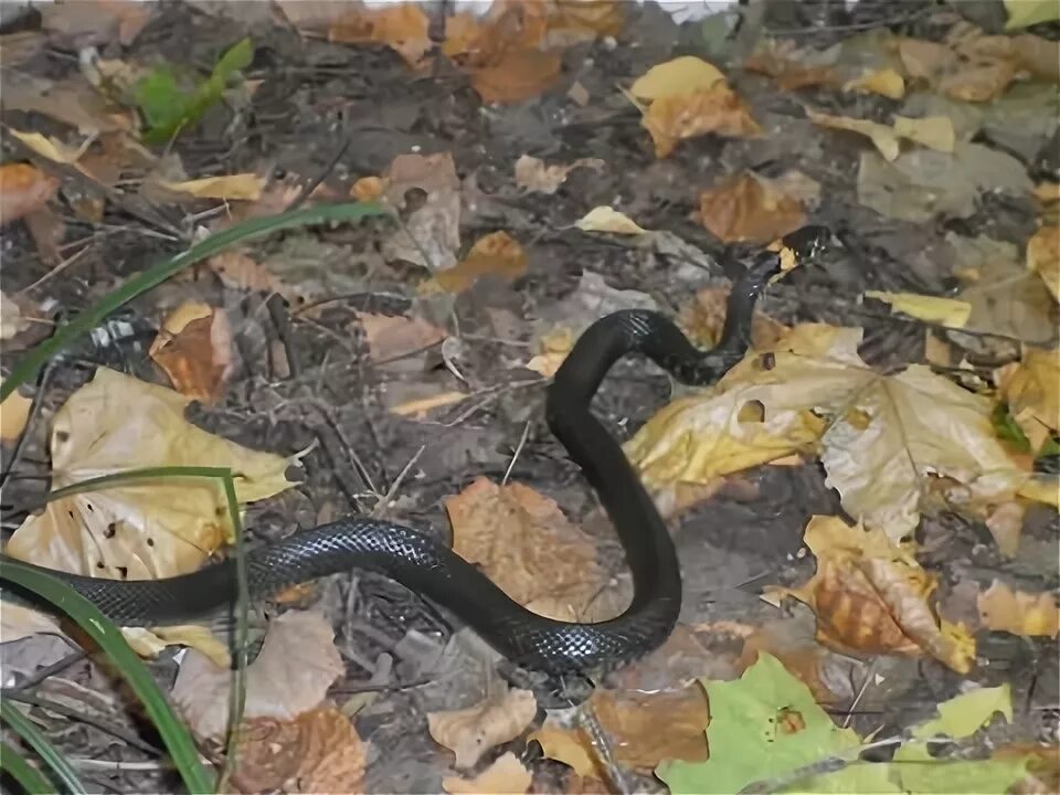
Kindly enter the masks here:
[[940, 622], [929, 603], [937, 583], [909, 548], [825, 516], [810, 519], [804, 540], [816, 573], [798, 589], [772, 593], [809, 605], [820, 643], [846, 653], [928, 654], [958, 674], [971, 670], [975, 640], [962, 625]]

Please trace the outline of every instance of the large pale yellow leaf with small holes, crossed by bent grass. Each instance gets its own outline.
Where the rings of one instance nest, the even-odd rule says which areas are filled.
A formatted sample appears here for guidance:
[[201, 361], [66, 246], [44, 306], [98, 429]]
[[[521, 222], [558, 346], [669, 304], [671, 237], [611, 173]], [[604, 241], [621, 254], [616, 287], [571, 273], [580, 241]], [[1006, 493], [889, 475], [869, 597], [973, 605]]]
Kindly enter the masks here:
[[[294, 485], [294, 458], [261, 453], [206, 433], [183, 417], [188, 399], [99, 368], [52, 423], [52, 488], [161, 466], [226, 467], [241, 504]], [[231, 540], [227, 505], [208, 478], [132, 481], [50, 501], [26, 519], [6, 552], [45, 569], [148, 580], [194, 571]]]

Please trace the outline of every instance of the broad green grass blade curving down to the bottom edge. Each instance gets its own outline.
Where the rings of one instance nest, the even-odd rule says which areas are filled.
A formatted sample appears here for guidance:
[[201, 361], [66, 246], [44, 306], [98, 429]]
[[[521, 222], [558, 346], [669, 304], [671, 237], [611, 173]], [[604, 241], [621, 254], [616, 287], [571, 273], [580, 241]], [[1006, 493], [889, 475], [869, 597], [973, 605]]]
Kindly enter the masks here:
[[190, 732], [173, 713], [147, 666], [126, 643], [118, 627], [65, 583], [10, 558], [0, 558], [0, 581], [14, 583], [36, 594], [75, 621], [109, 656], [144, 703], [189, 792], [213, 792], [211, 776], [199, 761], [199, 752]]

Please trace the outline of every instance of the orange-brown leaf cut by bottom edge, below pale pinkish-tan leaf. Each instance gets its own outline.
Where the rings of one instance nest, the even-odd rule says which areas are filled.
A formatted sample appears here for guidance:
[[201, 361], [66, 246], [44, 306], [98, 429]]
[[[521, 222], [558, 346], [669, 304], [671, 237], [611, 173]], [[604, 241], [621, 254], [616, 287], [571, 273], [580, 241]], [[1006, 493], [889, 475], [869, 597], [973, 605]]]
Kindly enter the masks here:
[[256, 718], [241, 729], [232, 781], [245, 793], [363, 792], [364, 743], [335, 708], [294, 720]]

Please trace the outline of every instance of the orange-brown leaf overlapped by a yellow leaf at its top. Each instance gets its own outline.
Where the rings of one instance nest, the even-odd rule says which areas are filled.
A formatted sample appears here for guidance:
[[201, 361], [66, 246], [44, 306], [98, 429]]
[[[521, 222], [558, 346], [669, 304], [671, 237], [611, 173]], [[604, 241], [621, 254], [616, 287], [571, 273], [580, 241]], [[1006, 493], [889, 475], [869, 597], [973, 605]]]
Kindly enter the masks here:
[[725, 138], [756, 138], [762, 128], [751, 108], [724, 83], [692, 94], [656, 99], [640, 120], [655, 142], [655, 156], [665, 158], [679, 141], [707, 132]]

